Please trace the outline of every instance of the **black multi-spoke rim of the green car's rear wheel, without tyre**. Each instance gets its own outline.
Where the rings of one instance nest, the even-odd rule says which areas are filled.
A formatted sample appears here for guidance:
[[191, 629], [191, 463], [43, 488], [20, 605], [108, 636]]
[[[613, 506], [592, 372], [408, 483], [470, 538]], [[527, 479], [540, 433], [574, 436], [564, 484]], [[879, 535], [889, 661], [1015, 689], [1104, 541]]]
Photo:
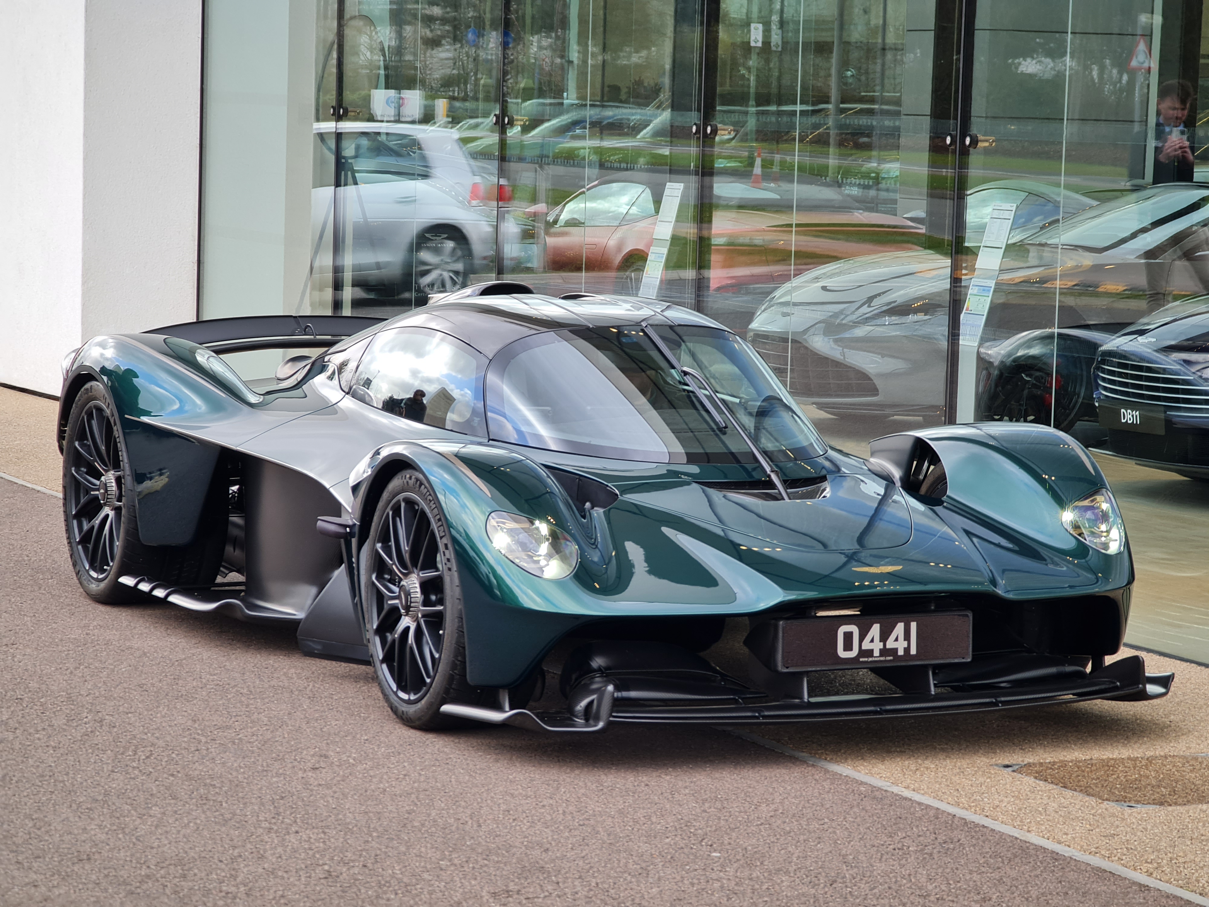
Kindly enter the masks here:
[[122, 444], [103, 400], [79, 414], [64, 451], [64, 515], [73, 561], [97, 584], [117, 562], [126, 498]]

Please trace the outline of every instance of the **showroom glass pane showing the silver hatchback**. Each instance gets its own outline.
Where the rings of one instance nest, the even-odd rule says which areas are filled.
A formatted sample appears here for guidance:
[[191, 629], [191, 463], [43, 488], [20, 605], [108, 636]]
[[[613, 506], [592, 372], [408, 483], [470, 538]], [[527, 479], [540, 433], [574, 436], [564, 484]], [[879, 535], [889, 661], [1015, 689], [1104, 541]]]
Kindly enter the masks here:
[[[397, 314], [494, 276], [499, 4], [346, 0], [339, 311]], [[487, 144], [475, 148], [485, 135]]]

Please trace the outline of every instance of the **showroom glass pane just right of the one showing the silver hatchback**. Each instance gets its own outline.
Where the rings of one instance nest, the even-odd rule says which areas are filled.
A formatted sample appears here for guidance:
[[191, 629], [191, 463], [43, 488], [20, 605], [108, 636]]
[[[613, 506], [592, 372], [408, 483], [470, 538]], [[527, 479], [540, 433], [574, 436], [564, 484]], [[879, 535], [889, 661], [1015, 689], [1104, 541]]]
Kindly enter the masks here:
[[501, 272], [554, 294], [638, 293], [648, 275], [646, 295], [692, 305], [695, 0], [509, 8]]

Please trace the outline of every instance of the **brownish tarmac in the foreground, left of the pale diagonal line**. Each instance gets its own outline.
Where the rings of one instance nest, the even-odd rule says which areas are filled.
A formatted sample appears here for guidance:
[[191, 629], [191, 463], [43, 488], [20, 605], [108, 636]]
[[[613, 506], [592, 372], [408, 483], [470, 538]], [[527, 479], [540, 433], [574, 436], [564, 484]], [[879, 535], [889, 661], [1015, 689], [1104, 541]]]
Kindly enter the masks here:
[[1182, 903], [721, 730], [409, 730], [288, 631], [91, 602], [58, 507], [0, 481], [0, 903]]

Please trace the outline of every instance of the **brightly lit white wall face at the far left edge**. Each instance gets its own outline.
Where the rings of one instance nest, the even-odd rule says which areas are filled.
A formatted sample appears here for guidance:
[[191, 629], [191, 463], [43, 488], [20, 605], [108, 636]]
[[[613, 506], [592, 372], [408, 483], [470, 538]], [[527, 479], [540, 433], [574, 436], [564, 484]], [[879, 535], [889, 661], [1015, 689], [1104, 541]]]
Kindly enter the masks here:
[[0, 2], [0, 382], [80, 343], [85, 0]]

